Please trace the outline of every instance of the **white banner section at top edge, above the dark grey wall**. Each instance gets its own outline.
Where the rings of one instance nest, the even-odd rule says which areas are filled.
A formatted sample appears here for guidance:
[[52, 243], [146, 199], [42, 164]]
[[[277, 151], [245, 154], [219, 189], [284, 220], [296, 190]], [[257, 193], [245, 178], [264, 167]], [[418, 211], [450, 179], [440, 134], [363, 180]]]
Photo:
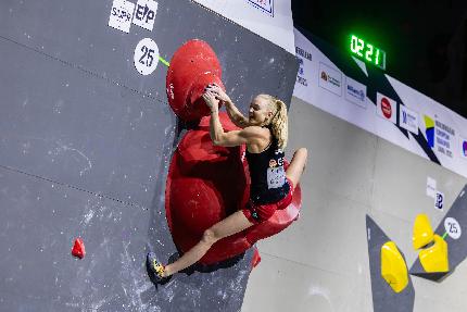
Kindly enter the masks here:
[[193, 0], [294, 54], [290, 0]]

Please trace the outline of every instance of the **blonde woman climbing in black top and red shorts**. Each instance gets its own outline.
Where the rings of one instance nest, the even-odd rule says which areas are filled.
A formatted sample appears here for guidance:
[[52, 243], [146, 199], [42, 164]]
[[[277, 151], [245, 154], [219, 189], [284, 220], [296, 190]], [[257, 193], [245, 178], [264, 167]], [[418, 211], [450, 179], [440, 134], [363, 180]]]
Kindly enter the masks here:
[[[217, 240], [264, 222], [276, 210], [287, 208], [305, 167], [307, 150], [300, 148], [287, 171], [283, 169], [288, 117], [282, 101], [268, 95], [258, 95], [251, 102], [247, 118], [217, 85], [209, 85], [203, 99], [211, 109], [210, 134], [213, 143], [223, 147], [247, 145], [245, 158], [251, 176], [250, 201], [243, 210], [204, 230], [201, 240], [174, 263], [164, 266], [153, 252], [149, 252], [147, 261], [156, 282], [194, 264]], [[224, 132], [218, 116], [220, 101], [230, 120], [241, 130]]]

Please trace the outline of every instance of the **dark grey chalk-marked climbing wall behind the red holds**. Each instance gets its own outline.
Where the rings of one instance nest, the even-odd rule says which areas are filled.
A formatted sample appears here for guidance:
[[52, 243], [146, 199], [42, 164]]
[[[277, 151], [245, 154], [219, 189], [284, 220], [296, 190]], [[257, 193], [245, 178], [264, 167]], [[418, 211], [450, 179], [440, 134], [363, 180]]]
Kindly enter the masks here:
[[296, 61], [197, 3], [157, 2], [153, 30], [129, 33], [108, 26], [111, 0], [0, 2], [0, 311], [240, 310], [251, 251], [159, 287], [148, 278], [148, 250], [176, 253], [164, 190], [180, 128], [166, 66], [142, 76], [134, 52], [151, 38], [169, 61], [207, 41], [242, 110], [258, 92], [289, 101]]

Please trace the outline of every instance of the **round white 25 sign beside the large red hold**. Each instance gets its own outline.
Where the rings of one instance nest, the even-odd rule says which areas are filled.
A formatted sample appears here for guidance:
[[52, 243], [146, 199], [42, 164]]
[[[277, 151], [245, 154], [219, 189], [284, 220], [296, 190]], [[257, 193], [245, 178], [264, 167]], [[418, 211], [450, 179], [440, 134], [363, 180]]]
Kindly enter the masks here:
[[151, 38], [144, 38], [135, 49], [135, 67], [141, 75], [150, 75], [159, 63], [159, 48]]

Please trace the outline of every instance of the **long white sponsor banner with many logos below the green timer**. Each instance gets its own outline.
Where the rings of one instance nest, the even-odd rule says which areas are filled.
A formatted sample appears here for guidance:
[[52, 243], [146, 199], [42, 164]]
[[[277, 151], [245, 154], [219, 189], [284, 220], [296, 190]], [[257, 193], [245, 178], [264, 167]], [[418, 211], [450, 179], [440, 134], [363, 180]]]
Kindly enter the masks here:
[[293, 96], [467, 177], [466, 118], [379, 68], [369, 71], [371, 64], [348, 51], [298, 29], [294, 35], [300, 68]]

